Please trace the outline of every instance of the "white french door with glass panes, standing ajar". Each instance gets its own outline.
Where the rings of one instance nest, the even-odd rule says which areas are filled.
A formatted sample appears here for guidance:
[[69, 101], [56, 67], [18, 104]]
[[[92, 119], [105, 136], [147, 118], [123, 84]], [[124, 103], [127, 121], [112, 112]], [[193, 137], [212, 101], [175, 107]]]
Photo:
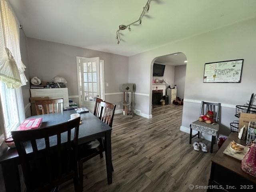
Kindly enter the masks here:
[[[100, 58], [77, 57], [79, 104], [93, 112], [96, 98], [102, 98]], [[104, 86], [104, 84], [102, 84]]]

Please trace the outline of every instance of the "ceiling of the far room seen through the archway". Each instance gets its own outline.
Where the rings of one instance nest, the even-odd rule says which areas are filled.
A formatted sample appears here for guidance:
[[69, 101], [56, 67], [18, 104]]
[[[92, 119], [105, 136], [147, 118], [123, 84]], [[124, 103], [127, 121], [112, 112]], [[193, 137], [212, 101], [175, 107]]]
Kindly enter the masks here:
[[184, 53], [172, 54], [172, 55], [165, 55], [160, 56], [156, 59], [155, 62], [166, 64], [166, 65], [186, 65], [184, 61], [186, 61], [186, 55]]

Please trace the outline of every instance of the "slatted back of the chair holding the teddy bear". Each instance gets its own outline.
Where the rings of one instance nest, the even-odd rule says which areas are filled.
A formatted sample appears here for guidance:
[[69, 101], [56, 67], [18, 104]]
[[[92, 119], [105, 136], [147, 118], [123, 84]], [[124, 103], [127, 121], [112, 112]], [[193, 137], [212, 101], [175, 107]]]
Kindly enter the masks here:
[[218, 123], [219, 120], [219, 114], [220, 114], [220, 103], [210, 103], [210, 102], [201, 102], [200, 107], [200, 116], [205, 115], [207, 111], [214, 112], [214, 119], [216, 123]]

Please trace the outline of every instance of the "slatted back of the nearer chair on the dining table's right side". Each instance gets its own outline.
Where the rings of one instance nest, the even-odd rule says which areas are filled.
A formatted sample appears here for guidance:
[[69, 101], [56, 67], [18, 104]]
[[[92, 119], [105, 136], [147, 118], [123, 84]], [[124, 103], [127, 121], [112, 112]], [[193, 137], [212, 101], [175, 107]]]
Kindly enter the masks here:
[[112, 127], [116, 105], [108, 102], [100, 102], [100, 120]]

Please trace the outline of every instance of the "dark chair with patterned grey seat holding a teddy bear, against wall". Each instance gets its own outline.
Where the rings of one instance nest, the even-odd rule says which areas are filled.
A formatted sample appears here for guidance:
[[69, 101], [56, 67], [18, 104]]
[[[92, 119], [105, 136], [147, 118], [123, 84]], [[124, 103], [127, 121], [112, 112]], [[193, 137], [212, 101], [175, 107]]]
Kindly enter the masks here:
[[[211, 148], [210, 148], [210, 152], [212, 153], [213, 145], [216, 142], [216, 135], [219, 130], [218, 120], [219, 120], [219, 114], [220, 114], [220, 103], [210, 103], [210, 102], [202, 101], [200, 106], [199, 116], [206, 114], [207, 111], [214, 112], [214, 120], [216, 123], [206, 124], [205, 122], [200, 122], [199, 120], [191, 123], [189, 144], [192, 143], [192, 138], [194, 138], [195, 136], [200, 138], [200, 132], [212, 135], [212, 142], [211, 142]], [[198, 131], [197, 134], [192, 136], [192, 130]]]

